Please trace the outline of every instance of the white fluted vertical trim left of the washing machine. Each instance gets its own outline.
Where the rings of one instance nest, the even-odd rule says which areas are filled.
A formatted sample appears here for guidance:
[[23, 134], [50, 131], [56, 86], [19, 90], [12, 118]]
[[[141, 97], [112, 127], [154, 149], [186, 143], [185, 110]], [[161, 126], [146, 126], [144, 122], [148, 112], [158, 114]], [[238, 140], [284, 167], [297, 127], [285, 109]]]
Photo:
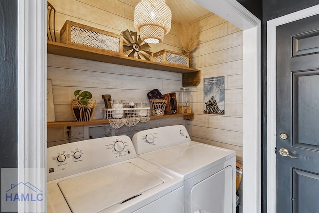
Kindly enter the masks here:
[[[18, 168], [22, 177], [36, 177], [36, 186], [46, 192], [46, 0], [18, 0]], [[46, 193], [44, 196], [46, 201]], [[46, 203], [26, 203], [36, 212]], [[30, 206], [28, 206], [30, 205]], [[42, 206], [41, 206], [42, 205]], [[33, 209], [32, 208], [32, 209]]]

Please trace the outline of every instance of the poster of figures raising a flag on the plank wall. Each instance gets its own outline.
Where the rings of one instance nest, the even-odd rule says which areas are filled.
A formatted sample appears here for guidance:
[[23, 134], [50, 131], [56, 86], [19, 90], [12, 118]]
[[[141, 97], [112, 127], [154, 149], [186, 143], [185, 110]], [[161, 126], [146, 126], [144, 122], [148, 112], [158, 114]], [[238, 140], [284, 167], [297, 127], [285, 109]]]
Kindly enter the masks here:
[[225, 114], [225, 76], [204, 78], [204, 113]]

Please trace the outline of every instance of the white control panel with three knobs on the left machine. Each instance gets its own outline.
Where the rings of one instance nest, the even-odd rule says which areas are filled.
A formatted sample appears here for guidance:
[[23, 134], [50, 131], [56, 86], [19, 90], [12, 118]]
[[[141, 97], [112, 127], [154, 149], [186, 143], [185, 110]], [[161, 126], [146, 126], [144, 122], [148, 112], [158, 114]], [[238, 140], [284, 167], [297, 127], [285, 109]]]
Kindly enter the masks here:
[[136, 157], [128, 136], [95, 138], [47, 149], [48, 181]]

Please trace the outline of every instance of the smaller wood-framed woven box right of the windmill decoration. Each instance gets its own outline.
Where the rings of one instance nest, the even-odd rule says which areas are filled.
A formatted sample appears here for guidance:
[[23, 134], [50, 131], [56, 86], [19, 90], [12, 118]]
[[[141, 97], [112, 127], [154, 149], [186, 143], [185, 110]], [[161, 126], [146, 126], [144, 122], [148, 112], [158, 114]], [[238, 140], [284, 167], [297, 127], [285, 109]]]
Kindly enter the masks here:
[[189, 67], [188, 55], [166, 49], [153, 53], [153, 61], [163, 64]]

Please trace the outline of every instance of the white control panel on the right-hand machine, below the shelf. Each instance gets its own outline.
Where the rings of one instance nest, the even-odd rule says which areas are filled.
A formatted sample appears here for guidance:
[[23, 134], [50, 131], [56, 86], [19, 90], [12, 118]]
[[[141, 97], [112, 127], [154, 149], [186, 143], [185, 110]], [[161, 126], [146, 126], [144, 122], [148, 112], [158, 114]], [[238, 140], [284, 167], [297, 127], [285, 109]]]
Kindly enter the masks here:
[[137, 154], [151, 152], [190, 141], [189, 134], [183, 125], [143, 130], [135, 133], [132, 138]]

